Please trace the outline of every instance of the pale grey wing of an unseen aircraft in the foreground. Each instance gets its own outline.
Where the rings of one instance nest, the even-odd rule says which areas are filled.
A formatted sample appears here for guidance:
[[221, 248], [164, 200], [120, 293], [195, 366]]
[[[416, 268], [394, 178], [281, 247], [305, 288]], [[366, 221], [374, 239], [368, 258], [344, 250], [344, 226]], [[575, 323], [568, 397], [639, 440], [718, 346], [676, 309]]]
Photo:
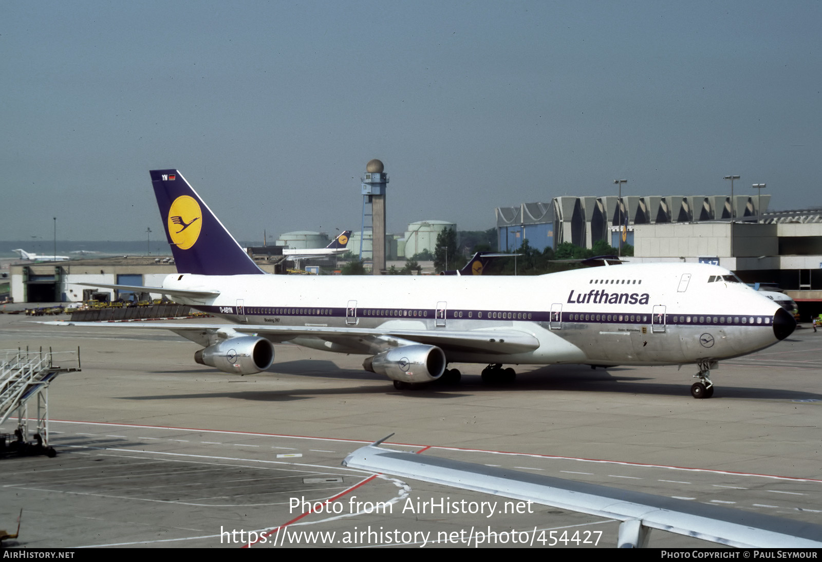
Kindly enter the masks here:
[[623, 522], [617, 539], [620, 547], [647, 546], [652, 528], [741, 548], [822, 546], [822, 526], [813, 523], [381, 449], [379, 443], [355, 450], [343, 465], [617, 519]]

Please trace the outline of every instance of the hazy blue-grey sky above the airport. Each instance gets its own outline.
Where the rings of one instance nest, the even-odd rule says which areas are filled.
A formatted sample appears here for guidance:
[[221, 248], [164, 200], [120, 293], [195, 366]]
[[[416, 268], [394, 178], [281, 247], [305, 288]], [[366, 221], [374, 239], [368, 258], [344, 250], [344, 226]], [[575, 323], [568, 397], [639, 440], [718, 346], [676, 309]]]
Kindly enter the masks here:
[[561, 195], [822, 205], [822, 2], [0, 2], [0, 239], [162, 232], [178, 168], [235, 237], [494, 226]]

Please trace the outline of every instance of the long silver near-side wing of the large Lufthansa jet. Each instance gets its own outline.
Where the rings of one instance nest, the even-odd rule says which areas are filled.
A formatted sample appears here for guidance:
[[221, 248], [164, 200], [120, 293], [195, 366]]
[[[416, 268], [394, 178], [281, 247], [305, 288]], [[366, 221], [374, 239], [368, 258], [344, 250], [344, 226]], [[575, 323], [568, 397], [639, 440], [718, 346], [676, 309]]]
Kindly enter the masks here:
[[[105, 286], [105, 285], [101, 285]], [[122, 287], [122, 286], [121, 286]], [[159, 292], [159, 291], [158, 291]], [[99, 322], [72, 322], [71, 320], [56, 320], [42, 322], [48, 325], [72, 326], [114, 326], [110, 323]], [[256, 334], [265, 336], [272, 341], [288, 341], [299, 336], [313, 336], [329, 341], [358, 340], [365, 345], [376, 348], [391, 348], [408, 343], [425, 343], [436, 345], [443, 351], [449, 352], [483, 352], [510, 354], [529, 352], [539, 347], [539, 341], [533, 334], [515, 329], [494, 329], [492, 331], [474, 330], [464, 332], [438, 332], [436, 329], [409, 329], [406, 327], [391, 328], [336, 328], [328, 326], [272, 326], [247, 324], [192, 324], [192, 323], [158, 323], [158, 322], [128, 322], [117, 324], [121, 328], [150, 328], [169, 329], [192, 341], [190, 337], [196, 333], [216, 332], [217, 330], [236, 331], [239, 334]], [[395, 341], [391, 341], [396, 339]], [[368, 341], [365, 341], [368, 340]], [[410, 340], [410, 341], [397, 341]]]

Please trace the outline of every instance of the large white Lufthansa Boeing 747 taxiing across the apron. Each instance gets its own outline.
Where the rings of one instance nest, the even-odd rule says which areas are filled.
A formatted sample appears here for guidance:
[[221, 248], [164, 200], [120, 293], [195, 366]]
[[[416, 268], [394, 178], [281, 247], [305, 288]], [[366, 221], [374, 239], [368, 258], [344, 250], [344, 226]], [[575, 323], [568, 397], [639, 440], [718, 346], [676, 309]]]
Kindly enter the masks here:
[[266, 371], [273, 343], [291, 342], [365, 355], [363, 367], [397, 389], [455, 382], [451, 362], [487, 365], [487, 382], [513, 380], [503, 366], [515, 364], [691, 364], [699, 379], [691, 394], [709, 398], [718, 361], [767, 348], [796, 328], [781, 306], [717, 265], [472, 279], [264, 274], [181, 173], [150, 174], [178, 274], [159, 288], [94, 286], [164, 293], [229, 320], [155, 325], [199, 343], [195, 361], [227, 373]]

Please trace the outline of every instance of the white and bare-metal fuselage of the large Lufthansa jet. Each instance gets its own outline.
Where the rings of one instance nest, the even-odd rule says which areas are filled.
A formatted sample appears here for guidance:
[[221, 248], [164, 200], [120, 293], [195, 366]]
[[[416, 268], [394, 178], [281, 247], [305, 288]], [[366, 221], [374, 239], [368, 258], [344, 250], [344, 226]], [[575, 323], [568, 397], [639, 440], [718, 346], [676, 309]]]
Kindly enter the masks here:
[[637, 264], [536, 277], [175, 274], [164, 288], [217, 290], [217, 297], [175, 300], [238, 324], [322, 327], [316, 336], [261, 335], [331, 351], [374, 352], [333, 329], [424, 330], [433, 337], [504, 330], [529, 334], [538, 347], [501, 357], [444, 346], [448, 361], [672, 365], [778, 342], [779, 306], [732, 277], [716, 265]]

